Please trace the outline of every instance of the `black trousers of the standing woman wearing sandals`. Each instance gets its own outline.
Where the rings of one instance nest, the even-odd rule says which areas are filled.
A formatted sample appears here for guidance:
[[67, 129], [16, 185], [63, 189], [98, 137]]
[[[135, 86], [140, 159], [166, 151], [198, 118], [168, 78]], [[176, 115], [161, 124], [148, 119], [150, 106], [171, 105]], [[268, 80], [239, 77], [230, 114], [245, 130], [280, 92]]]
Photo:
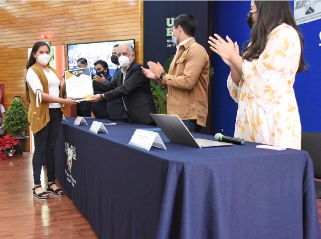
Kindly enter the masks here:
[[[48, 124], [34, 134], [35, 153], [32, 158], [34, 169], [34, 183], [41, 184], [40, 174], [44, 162], [47, 167], [48, 182], [54, 182], [55, 177], [55, 146], [58, 138], [62, 119], [60, 108], [49, 109], [50, 121]], [[46, 160], [45, 160], [46, 159]]]

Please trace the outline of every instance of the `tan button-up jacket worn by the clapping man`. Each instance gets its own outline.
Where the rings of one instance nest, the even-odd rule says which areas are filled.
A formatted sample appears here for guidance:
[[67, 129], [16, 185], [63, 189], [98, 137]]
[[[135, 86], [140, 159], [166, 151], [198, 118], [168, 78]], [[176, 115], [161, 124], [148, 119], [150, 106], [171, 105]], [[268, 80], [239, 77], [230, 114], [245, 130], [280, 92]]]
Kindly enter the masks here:
[[169, 74], [160, 82], [163, 86], [167, 85], [167, 114], [178, 115], [182, 120], [196, 119], [198, 125], [205, 127], [208, 114], [209, 56], [192, 38], [180, 46], [175, 63], [174, 59]]

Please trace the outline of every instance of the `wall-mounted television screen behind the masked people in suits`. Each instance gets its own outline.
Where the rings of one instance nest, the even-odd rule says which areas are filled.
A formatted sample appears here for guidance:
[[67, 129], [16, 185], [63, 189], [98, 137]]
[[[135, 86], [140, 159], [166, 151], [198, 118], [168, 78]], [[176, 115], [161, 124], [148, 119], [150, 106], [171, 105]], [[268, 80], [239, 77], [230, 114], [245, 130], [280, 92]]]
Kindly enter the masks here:
[[122, 43], [128, 43], [135, 49], [135, 40], [69, 44], [67, 45], [68, 69], [77, 68], [77, 60], [79, 58], [85, 58], [87, 59], [91, 73], [96, 75], [94, 63], [98, 60], [103, 60], [108, 64], [109, 74], [113, 75], [117, 66], [111, 63], [111, 52], [116, 44]]

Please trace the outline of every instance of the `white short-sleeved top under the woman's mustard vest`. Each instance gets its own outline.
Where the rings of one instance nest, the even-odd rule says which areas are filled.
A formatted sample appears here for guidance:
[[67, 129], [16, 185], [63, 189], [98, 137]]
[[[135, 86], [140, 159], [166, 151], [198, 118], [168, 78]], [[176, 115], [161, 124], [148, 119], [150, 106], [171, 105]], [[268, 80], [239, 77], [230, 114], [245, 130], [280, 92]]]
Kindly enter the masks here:
[[[49, 95], [59, 98], [59, 96], [60, 96], [60, 91], [59, 91], [60, 80], [59, 80], [59, 78], [52, 70], [50, 70], [50, 72], [44, 71], [44, 73], [48, 79]], [[30, 69], [30, 68], [28, 69], [27, 75], [26, 75], [26, 80], [27, 80], [28, 84], [30, 85], [31, 89], [33, 90], [34, 94], [36, 94], [37, 89], [44, 91], [44, 88], [40, 82], [40, 79], [33, 69]], [[41, 102], [41, 97], [40, 97], [40, 102]], [[60, 108], [60, 107], [61, 106], [59, 103], [49, 103], [49, 108]]]

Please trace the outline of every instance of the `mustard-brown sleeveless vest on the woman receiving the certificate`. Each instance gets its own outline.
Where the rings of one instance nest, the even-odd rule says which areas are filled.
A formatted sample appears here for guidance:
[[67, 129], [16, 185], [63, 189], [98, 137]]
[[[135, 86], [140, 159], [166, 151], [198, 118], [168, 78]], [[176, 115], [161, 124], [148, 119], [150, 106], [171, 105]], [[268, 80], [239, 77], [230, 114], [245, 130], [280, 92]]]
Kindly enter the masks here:
[[[39, 80], [42, 84], [44, 92], [49, 94], [48, 79], [44, 71], [37, 64], [32, 65], [30, 68], [33, 69], [37, 74], [37, 76], [39, 77]], [[58, 76], [54, 68], [50, 67], [50, 69]], [[42, 101], [41, 103], [39, 102], [39, 107], [37, 108], [36, 95], [34, 94], [33, 90], [31, 89], [28, 83], [27, 83], [27, 86], [29, 89], [29, 97], [30, 97], [28, 121], [32, 132], [36, 134], [39, 130], [44, 128], [47, 125], [47, 123], [50, 121], [49, 103], [45, 101]], [[60, 98], [62, 98], [61, 89], [60, 89]], [[63, 107], [61, 107], [61, 111], [63, 112]]]

